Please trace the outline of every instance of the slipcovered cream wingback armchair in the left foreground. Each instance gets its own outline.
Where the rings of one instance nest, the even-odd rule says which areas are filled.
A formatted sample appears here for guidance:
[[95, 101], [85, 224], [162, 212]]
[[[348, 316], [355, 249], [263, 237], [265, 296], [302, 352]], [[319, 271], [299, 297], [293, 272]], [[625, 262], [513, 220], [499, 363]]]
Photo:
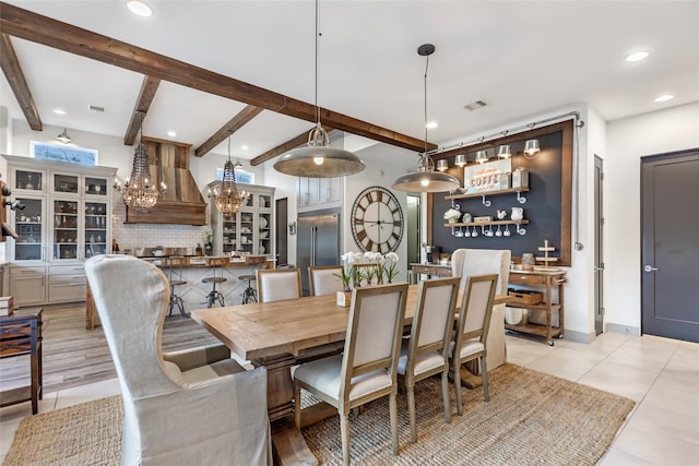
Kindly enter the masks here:
[[167, 278], [131, 255], [85, 262], [123, 403], [123, 465], [272, 465], [266, 371], [223, 345], [163, 353]]

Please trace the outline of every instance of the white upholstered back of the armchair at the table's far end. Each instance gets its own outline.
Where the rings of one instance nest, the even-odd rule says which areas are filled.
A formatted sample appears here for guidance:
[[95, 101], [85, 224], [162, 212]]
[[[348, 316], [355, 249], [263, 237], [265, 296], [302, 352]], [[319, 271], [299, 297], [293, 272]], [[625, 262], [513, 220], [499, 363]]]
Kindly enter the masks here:
[[461, 277], [461, 289], [471, 275], [498, 274], [496, 294], [507, 295], [511, 259], [509, 249], [457, 249], [451, 254], [451, 273]]

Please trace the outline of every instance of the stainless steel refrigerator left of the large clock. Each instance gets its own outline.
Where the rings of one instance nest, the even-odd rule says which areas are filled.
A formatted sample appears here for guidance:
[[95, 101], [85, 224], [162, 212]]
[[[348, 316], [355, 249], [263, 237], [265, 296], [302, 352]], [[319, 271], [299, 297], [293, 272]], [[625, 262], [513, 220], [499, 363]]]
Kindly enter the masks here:
[[297, 235], [296, 265], [301, 270], [304, 296], [308, 296], [308, 267], [340, 264], [340, 210], [298, 214]]

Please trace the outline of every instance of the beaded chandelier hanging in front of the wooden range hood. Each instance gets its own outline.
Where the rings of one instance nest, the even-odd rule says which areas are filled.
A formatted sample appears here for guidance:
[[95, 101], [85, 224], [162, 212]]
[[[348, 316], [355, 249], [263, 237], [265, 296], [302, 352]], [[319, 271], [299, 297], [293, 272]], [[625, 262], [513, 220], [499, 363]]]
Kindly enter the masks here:
[[143, 118], [142, 111], [138, 112], [141, 117], [140, 121], [140, 141], [133, 152], [133, 163], [131, 166], [131, 177], [127, 178], [123, 187], [121, 181], [115, 181], [114, 188], [123, 194], [123, 203], [127, 207], [140, 213], [147, 213], [155, 206], [161, 193], [165, 193], [165, 183], [161, 183], [161, 190], [150, 181], [151, 166], [149, 164], [149, 154], [143, 144]]

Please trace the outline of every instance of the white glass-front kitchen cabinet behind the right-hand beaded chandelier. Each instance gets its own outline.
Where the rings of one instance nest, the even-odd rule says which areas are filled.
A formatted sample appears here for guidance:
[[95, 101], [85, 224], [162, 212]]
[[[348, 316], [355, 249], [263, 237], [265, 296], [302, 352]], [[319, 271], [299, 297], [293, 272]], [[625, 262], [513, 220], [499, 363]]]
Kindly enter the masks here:
[[[209, 184], [211, 191], [221, 191], [221, 181]], [[211, 225], [214, 231], [214, 255], [265, 254], [274, 256], [274, 188], [238, 184], [250, 193], [246, 204], [233, 218], [224, 218], [211, 199]]]

